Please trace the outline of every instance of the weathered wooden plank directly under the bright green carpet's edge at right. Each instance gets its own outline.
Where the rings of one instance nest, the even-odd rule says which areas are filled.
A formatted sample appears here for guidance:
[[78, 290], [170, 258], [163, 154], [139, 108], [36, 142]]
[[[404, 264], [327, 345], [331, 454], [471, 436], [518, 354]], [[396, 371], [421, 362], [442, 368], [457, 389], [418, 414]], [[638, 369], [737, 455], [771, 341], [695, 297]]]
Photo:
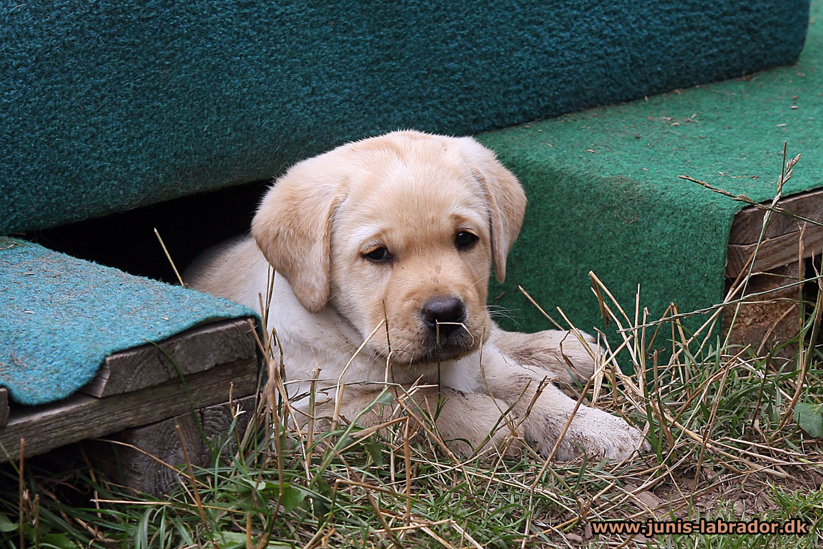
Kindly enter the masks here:
[[[788, 235], [764, 240], [755, 258], [753, 271], [770, 271], [789, 263], [797, 263], [801, 232], [803, 258], [820, 254], [823, 251], [823, 227], [807, 226], [804, 231], [797, 230]], [[729, 244], [726, 254], [726, 277], [737, 277], [756, 247], [757, 244]]]

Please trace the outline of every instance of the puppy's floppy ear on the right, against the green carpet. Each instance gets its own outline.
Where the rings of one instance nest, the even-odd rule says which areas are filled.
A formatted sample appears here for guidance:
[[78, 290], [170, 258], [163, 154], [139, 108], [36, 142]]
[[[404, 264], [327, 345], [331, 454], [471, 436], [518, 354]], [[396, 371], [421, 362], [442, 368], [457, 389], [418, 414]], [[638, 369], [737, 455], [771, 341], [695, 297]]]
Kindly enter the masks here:
[[491, 221], [491, 257], [495, 262], [495, 277], [502, 282], [506, 277], [506, 257], [523, 225], [526, 194], [494, 152], [472, 137], [461, 137], [459, 141], [472, 174], [486, 195]]

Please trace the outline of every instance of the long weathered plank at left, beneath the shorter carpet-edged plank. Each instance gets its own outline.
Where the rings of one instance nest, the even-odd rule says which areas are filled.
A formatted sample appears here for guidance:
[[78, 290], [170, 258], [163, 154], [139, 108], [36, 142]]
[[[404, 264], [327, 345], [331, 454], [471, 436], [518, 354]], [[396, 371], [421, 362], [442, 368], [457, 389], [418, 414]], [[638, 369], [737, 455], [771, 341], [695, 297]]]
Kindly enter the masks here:
[[257, 378], [257, 359], [252, 357], [187, 375], [185, 383], [174, 379], [106, 398], [77, 393], [53, 404], [16, 407], [7, 426], [0, 429], [0, 444], [6, 450], [0, 454], [0, 462], [16, 457], [22, 438], [26, 439], [27, 456], [42, 454], [63, 444], [227, 402], [232, 384], [235, 397], [248, 396], [254, 393]]

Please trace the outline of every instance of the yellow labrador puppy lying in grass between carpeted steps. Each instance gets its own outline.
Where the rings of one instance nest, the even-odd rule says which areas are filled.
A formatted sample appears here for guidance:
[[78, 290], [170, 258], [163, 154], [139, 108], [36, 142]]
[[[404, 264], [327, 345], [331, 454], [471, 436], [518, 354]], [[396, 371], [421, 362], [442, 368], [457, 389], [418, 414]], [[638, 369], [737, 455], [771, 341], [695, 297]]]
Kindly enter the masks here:
[[[320, 368], [328, 398], [317, 398], [316, 416], [337, 409], [351, 420], [386, 382], [427, 384], [412, 403], [439, 406], [437, 429], [460, 450], [514, 433], [549, 454], [568, 423], [557, 458], [626, 458], [646, 445], [638, 430], [591, 407], [572, 418], [575, 401], [545, 383], [570, 383], [568, 365], [588, 378], [595, 346], [491, 321], [491, 266], [502, 281], [525, 207], [514, 174], [471, 137], [388, 133], [294, 165], [263, 198], [252, 237], [189, 281], [258, 309], [274, 268], [268, 328], [294, 393], [308, 393]], [[382, 409], [360, 422], [385, 419]]]

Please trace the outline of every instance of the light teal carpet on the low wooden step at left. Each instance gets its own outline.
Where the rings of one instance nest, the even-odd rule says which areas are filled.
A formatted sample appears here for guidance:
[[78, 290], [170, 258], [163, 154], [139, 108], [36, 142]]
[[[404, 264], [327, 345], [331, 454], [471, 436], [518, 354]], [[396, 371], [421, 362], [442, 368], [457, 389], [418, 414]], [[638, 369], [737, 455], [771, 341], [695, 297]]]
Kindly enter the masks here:
[[16, 402], [69, 396], [114, 351], [254, 316], [227, 300], [0, 236], [0, 387]]

